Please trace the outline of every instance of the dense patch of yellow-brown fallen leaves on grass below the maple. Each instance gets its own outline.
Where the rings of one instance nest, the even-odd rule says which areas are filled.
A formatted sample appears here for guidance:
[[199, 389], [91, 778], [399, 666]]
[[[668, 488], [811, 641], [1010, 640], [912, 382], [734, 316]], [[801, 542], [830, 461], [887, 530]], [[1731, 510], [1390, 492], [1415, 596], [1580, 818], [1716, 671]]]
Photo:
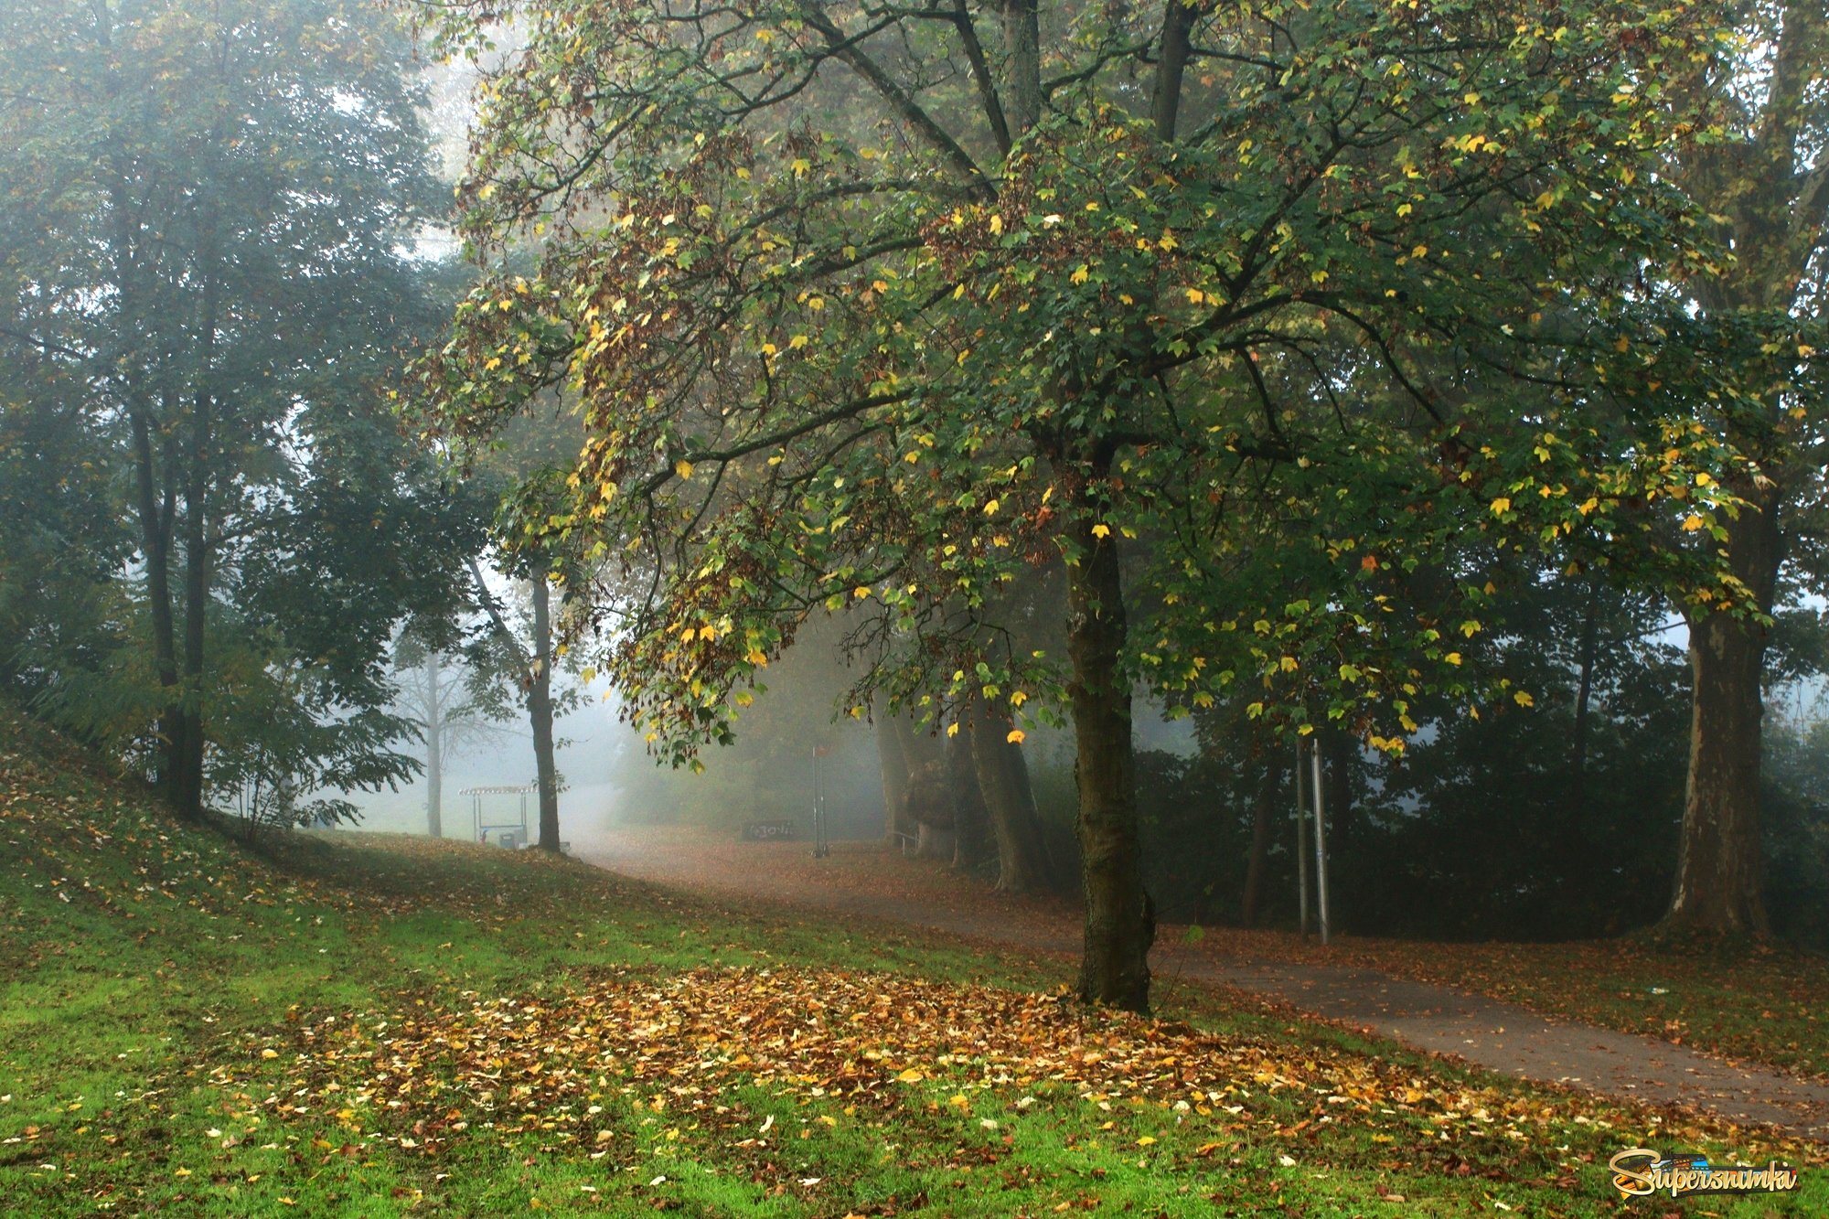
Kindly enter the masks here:
[[1648, 1131], [1706, 1137], [1685, 1118], [1578, 1093], [1467, 1084], [1344, 1047], [1086, 1010], [1064, 994], [792, 968], [572, 981], [582, 985], [543, 996], [318, 1014], [249, 1034], [212, 1082], [241, 1089], [251, 1113], [333, 1115], [428, 1157], [459, 1138], [529, 1135], [604, 1155], [631, 1113], [702, 1118], [746, 1146], [759, 1131], [730, 1117], [732, 1098], [755, 1089], [818, 1102], [829, 1122], [834, 1111], [940, 1106], [995, 1129], [986, 1113], [1086, 1106], [1099, 1126], [1154, 1111], [1191, 1124], [1202, 1157], [1246, 1138], [1293, 1149], [1353, 1126], [1394, 1155], [1421, 1144], [1465, 1151], [1469, 1140], [1522, 1153]]

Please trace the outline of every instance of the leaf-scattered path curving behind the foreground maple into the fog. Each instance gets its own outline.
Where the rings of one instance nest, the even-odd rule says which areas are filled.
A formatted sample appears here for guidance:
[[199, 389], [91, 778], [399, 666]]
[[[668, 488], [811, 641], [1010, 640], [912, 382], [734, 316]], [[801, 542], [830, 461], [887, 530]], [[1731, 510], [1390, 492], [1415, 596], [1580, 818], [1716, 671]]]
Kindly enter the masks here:
[[[580, 857], [611, 871], [699, 893], [761, 899], [803, 912], [933, 928], [1002, 948], [1074, 955], [1079, 915], [1063, 901], [1008, 897], [876, 844], [732, 842], [680, 829], [631, 829]], [[1736, 1065], [1655, 1038], [1547, 1019], [1483, 996], [1372, 970], [1220, 955], [1163, 928], [1150, 968], [1222, 983], [1370, 1029], [1492, 1071], [1615, 1096], [1690, 1104], [1734, 1122], [1770, 1122], [1829, 1142], [1829, 1087]]]

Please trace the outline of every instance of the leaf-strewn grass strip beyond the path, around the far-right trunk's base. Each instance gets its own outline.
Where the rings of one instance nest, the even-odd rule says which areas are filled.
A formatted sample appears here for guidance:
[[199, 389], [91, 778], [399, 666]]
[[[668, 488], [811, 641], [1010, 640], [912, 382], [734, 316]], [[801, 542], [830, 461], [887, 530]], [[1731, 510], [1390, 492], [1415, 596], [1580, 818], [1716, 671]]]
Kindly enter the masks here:
[[1450, 944], [1209, 930], [1211, 946], [1357, 965], [1829, 1082], [1829, 959], [1785, 944], [1639, 932], [1562, 944]]

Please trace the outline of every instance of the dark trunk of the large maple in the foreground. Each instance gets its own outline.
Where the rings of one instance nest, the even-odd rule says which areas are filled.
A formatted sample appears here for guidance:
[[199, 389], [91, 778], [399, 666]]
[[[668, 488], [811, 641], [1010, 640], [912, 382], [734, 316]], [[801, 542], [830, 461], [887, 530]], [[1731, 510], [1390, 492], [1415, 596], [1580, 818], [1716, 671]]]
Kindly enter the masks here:
[[1108, 531], [1096, 536], [1090, 516], [1081, 516], [1075, 531], [1079, 558], [1068, 567], [1066, 652], [1074, 666], [1068, 696], [1086, 904], [1079, 998], [1147, 1012], [1154, 917], [1143, 893], [1130, 683], [1121, 672], [1125, 606], [1118, 538]]

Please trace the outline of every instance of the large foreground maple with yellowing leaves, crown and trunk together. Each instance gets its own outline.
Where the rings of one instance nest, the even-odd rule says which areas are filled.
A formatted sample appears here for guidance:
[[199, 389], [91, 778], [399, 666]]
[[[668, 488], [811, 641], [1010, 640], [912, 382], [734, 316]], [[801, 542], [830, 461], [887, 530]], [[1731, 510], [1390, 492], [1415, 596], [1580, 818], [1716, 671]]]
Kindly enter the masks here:
[[[675, 761], [821, 610], [876, 624], [860, 714], [1070, 717], [1088, 1001], [1149, 1003], [1139, 683], [1247, 683], [1255, 716], [1399, 749], [1491, 606], [1460, 547], [1723, 494], [1630, 300], [1648, 264], [1705, 269], [1652, 170], [1705, 130], [1659, 82], [1706, 5], [433, 15], [448, 49], [510, 18], [518, 46], [481, 57], [487, 275], [424, 366], [428, 432], [576, 401], [571, 500], [527, 525], [598, 560], [574, 610], [616, 611], [609, 668]], [[1388, 584], [1425, 562], [1427, 610]], [[1032, 564], [1064, 566], [1064, 657], [1002, 620]]]

